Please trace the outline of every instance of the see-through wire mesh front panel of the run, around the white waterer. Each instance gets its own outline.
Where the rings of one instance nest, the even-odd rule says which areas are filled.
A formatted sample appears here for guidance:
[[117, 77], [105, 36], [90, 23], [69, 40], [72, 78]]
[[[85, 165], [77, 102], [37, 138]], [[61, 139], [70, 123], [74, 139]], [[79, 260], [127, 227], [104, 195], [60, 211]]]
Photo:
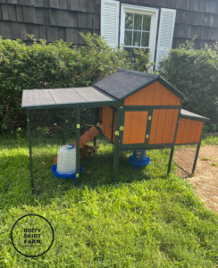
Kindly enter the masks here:
[[75, 108], [29, 111], [33, 178], [37, 192], [58, 187], [51, 168], [58, 148], [76, 139], [75, 118]]

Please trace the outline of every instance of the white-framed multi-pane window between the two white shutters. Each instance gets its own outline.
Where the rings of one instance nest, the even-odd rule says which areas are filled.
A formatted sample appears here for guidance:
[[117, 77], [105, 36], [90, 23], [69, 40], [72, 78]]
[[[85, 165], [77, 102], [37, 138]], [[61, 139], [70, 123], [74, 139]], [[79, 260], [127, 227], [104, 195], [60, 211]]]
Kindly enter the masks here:
[[155, 38], [158, 10], [142, 6], [122, 4], [120, 45], [134, 57], [133, 48], [145, 48], [155, 59]]

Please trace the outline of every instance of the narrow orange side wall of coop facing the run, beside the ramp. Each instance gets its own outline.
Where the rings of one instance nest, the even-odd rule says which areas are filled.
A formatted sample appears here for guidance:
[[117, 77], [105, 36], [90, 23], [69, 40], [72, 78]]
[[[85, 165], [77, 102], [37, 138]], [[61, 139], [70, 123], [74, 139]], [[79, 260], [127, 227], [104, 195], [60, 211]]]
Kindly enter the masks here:
[[113, 110], [110, 107], [103, 107], [102, 133], [110, 141], [112, 139], [112, 121], [113, 121]]

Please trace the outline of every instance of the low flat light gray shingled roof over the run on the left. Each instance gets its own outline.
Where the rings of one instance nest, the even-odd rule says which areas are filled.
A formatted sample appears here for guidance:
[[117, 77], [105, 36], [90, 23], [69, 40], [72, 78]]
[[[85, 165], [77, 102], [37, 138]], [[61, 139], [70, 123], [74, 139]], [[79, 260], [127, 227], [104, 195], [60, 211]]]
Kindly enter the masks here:
[[73, 105], [82, 103], [96, 103], [115, 101], [98, 88], [53, 88], [53, 89], [25, 89], [22, 93], [22, 108], [50, 105]]

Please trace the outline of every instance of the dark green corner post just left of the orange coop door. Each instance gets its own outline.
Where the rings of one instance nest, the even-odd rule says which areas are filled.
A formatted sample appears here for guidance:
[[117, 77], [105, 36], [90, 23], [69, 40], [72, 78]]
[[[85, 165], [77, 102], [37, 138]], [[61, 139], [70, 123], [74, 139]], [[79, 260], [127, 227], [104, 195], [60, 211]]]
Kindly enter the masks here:
[[[119, 132], [120, 130], [120, 124], [121, 124], [121, 108], [119, 104], [117, 106], [117, 119], [116, 119], [116, 131]], [[113, 130], [114, 131], [114, 130]], [[113, 178], [112, 181], [113, 183], [116, 181], [117, 178], [117, 171], [118, 171], [118, 163], [119, 163], [119, 152], [120, 152], [120, 144], [121, 144], [121, 131], [119, 132], [119, 135], [115, 135], [115, 140], [114, 140], [114, 152], [113, 152]]]

